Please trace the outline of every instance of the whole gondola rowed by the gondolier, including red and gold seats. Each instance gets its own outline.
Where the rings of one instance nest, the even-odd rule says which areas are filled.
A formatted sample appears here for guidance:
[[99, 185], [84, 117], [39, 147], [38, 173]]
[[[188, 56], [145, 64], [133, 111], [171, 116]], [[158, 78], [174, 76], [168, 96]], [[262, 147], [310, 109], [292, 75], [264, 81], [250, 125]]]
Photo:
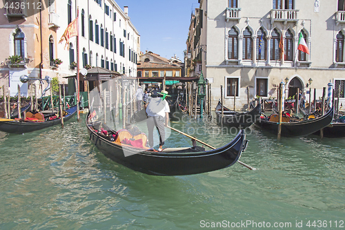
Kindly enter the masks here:
[[[199, 146], [148, 151], [143, 133], [112, 131], [98, 120], [91, 122], [89, 117], [90, 113], [86, 117], [89, 139], [99, 151], [129, 169], [148, 175], [192, 175], [224, 169], [239, 160], [247, 144], [246, 135], [241, 130], [231, 142], [210, 151]], [[139, 146], [128, 144], [129, 140], [139, 142]]]

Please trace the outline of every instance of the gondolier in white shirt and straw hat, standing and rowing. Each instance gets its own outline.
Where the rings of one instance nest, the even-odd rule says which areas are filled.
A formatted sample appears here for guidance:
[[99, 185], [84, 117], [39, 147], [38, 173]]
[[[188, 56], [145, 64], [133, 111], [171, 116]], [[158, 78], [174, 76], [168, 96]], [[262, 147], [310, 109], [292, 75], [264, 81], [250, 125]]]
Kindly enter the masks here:
[[148, 145], [149, 150], [153, 150], [153, 129], [155, 126], [159, 133], [159, 148], [158, 151], [163, 150], [165, 131], [164, 126], [168, 126], [170, 108], [166, 101], [166, 97], [170, 97], [166, 90], [161, 90], [159, 95], [162, 97], [155, 97], [150, 100], [150, 103], [146, 107], [146, 113], [148, 115], [147, 126], [148, 126]]

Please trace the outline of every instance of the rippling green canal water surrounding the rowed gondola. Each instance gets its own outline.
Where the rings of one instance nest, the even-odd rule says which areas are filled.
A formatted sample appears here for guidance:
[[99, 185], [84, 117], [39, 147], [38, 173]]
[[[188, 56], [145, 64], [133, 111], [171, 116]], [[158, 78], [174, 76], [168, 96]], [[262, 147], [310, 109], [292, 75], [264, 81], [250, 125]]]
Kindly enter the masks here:
[[[251, 126], [241, 161], [257, 170], [159, 177], [104, 157], [84, 119], [0, 133], [0, 229], [345, 229], [344, 139], [277, 142]], [[214, 119], [171, 125], [216, 147], [236, 134]], [[171, 133], [166, 147], [190, 144]]]

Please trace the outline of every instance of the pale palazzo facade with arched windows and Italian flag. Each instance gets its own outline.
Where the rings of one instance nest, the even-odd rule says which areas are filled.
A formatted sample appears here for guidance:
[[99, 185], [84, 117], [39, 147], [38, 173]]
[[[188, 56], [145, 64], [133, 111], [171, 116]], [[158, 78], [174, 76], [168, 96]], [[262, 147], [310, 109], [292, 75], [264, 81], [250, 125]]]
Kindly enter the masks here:
[[[342, 0], [199, 0], [187, 40], [189, 66], [201, 64], [213, 102], [222, 85], [225, 104], [236, 95], [236, 108], [246, 107], [247, 86], [251, 99], [269, 98], [277, 97], [280, 82], [286, 98], [299, 88], [307, 100], [309, 88], [318, 99], [331, 82], [343, 103], [344, 10]], [[300, 35], [310, 54], [297, 50]]]

